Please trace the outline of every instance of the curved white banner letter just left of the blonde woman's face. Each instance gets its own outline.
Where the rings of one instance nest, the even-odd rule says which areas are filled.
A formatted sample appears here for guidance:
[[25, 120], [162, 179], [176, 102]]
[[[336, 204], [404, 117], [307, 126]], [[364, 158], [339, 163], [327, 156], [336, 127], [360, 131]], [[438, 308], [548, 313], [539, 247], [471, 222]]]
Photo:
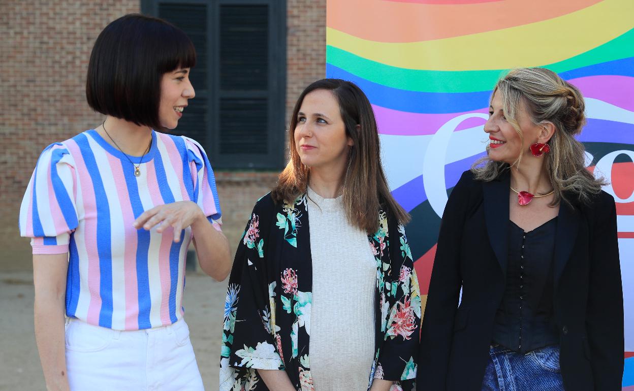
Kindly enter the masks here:
[[[456, 127], [464, 120], [470, 118], [489, 119], [488, 114], [469, 113], [458, 115], [458, 117], [448, 120], [438, 129], [432, 137], [427, 151], [425, 151], [425, 159], [423, 160], [423, 184], [425, 186], [425, 194], [429, 205], [439, 217], [442, 217], [444, 205], [446, 205], [447, 188], [444, 182], [444, 161], [447, 155], [447, 148], [451, 139], [451, 134]], [[460, 146], [456, 146], [460, 148]]]

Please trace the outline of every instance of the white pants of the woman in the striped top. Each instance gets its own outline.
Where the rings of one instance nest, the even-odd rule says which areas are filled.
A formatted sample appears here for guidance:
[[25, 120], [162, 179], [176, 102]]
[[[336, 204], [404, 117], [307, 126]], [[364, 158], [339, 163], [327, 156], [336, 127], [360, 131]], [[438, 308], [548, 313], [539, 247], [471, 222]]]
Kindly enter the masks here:
[[184, 319], [136, 331], [70, 319], [66, 366], [72, 391], [204, 390]]

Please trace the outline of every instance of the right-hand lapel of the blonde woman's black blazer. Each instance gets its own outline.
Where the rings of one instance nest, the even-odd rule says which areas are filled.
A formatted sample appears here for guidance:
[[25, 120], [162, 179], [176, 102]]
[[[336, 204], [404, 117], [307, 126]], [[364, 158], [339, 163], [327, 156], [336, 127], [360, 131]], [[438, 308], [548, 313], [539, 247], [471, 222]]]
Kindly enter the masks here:
[[553, 274], [555, 290], [570, 253], [573, 251], [574, 242], [579, 232], [579, 219], [579, 212], [573, 205], [562, 200], [559, 204], [559, 215], [557, 215], [557, 228], [555, 231], [555, 272]]

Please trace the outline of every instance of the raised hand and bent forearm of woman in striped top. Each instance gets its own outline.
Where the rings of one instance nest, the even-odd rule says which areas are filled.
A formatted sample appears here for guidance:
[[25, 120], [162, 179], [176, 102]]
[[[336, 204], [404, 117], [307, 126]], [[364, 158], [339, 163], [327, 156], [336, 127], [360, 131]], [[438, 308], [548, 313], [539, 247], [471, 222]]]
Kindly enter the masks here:
[[217, 281], [223, 281], [231, 271], [229, 241], [212, 226], [204, 212], [191, 201], [166, 203], [146, 210], [134, 221], [135, 228], [146, 230], [157, 226], [162, 233], [174, 229], [174, 242], [181, 240], [183, 229], [191, 226], [200, 268]]

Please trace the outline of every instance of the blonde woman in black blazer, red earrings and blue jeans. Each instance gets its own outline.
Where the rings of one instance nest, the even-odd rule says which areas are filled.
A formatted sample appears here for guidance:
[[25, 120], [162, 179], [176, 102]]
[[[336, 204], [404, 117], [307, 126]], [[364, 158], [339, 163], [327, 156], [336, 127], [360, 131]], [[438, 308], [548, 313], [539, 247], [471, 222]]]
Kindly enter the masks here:
[[444, 209], [418, 390], [621, 390], [616, 206], [576, 139], [584, 108], [545, 68], [493, 89], [488, 156]]

